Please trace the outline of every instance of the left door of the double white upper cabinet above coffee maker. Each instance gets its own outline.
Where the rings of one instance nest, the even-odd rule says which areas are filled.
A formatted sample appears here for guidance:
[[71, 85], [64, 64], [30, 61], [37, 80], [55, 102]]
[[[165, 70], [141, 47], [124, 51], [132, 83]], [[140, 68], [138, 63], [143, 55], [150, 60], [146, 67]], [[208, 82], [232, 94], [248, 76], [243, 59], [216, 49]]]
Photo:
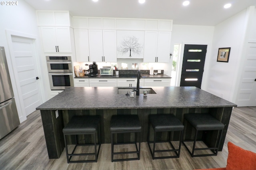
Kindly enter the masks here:
[[89, 51], [91, 61], [103, 61], [102, 30], [89, 30]]

